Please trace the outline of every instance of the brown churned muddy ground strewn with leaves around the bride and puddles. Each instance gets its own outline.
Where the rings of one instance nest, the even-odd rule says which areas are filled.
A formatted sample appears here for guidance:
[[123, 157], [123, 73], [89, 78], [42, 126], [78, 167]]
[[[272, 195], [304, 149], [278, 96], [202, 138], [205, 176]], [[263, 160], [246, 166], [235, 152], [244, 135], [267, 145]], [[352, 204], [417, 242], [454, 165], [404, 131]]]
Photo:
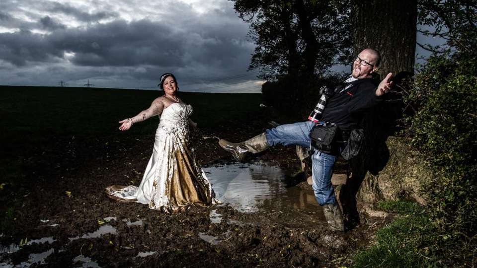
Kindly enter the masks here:
[[[197, 156], [204, 166], [233, 162], [217, 139], [241, 140], [269, 127], [256, 122], [237, 128], [233, 124], [201, 129], [195, 135]], [[317, 222], [289, 227], [300, 218], [281, 213], [242, 213], [228, 205], [194, 208], [176, 214], [151, 210], [147, 205], [113, 201], [103, 189], [110, 185], [138, 185], [152, 152], [153, 134], [99, 137], [80, 140], [59, 138], [57, 157], [30, 163], [27, 174], [1, 195], [17, 202], [12, 225], [0, 233], [2, 246], [30, 241], [14, 253], [1, 253], [0, 266], [30, 267], [340, 267], [372, 239], [376, 228], [389, 219], [366, 218], [345, 233]], [[310, 188], [299, 174], [294, 147], [272, 148], [248, 159], [277, 164], [294, 187]], [[23, 183], [20, 183], [23, 182]], [[28, 182], [28, 183], [26, 183]], [[2, 206], [2, 213], [8, 207]], [[212, 222], [211, 210], [222, 215]], [[11, 212], [11, 211], [10, 211]], [[321, 213], [321, 211], [318, 211]], [[364, 216], [364, 215], [363, 215]], [[105, 220], [104, 218], [114, 217]], [[142, 224], [127, 224], [138, 222]], [[115, 228], [96, 238], [86, 238], [101, 226]], [[209, 238], [202, 239], [204, 234]], [[32, 240], [51, 237], [46, 243]], [[51, 251], [51, 249], [54, 249]], [[49, 251], [42, 262], [34, 254]], [[32, 255], [33, 254], [33, 255]], [[146, 257], [138, 257], [148, 255]], [[30, 263], [25, 263], [30, 260]], [[88, 262], [82, 262], [86, 260]], [[33, 263], [32, 263], [33, 262]]]

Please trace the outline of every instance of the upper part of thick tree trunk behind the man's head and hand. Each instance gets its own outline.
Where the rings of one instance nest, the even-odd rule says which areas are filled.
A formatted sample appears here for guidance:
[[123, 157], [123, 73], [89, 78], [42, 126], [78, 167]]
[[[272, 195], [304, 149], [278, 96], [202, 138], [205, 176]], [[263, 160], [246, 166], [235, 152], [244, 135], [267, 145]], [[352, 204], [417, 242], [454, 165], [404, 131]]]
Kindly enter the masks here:
[[354, 0], [351, 29], [354, 56], [365, 48], [381, 53], [378, 73], [413, 72], [416, 50], [417, 0]]

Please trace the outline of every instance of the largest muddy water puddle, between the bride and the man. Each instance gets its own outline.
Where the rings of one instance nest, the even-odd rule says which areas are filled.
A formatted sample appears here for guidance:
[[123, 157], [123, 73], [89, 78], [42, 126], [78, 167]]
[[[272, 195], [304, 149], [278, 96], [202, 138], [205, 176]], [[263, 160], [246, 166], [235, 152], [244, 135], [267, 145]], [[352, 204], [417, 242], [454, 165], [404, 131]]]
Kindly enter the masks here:
[[[311, 189], [287, 187], [278, 167], [234, 163], [204, 168], [216, 198], [241, 212], [276, 213], [288, 226], [325, 222]], [[211, 221], [220, 219], [211, 211]], [[220, 215], [219, 215], [220, 216]]]

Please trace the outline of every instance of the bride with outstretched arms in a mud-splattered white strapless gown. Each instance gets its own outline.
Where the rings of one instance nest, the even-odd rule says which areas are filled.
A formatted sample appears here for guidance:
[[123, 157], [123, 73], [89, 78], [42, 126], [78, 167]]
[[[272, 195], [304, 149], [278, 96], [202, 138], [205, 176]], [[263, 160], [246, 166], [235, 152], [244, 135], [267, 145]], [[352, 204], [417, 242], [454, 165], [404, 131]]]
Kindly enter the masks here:
[[143, 180], [139, 187], [107, 187], [106, 193], [118, 201], [135, 201], [166, 212], [182, 210], [191, 204], [214, 204], [215, 193], [189, 146], [189, 127], [197, 127], [189, 119], [192, 106], [176, 96], [178, 87], [173, 74], [164, 73], [159, 86], [164, 95], [155, 99], [149, 109], [119, 122], [119, 130], [127, 131], [135, 123], [160, 116], [153, 155]]

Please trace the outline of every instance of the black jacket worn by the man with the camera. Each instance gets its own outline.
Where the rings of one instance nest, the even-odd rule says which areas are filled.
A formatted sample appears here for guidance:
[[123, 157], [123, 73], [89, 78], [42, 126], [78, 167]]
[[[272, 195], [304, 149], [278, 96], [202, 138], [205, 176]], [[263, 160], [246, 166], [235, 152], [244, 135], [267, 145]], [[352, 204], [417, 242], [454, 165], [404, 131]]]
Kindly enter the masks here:
[[351, 82], [350, 87], [328, 99], [320, 121], [334, 123], [342, 131], [356, 129], [363, 119], [363, 112], [381, 101], [376, 96], [377, 86], [378, 81], [374, 78]]

